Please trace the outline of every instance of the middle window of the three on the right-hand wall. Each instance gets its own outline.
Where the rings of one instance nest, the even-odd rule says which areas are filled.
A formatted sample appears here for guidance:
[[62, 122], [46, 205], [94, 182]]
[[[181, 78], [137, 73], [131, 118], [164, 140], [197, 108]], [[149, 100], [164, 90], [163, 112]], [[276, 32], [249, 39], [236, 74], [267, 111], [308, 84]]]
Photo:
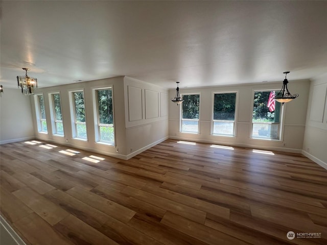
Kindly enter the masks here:
[[213, 134], [235, 136], [236, 92], [214, 94]]

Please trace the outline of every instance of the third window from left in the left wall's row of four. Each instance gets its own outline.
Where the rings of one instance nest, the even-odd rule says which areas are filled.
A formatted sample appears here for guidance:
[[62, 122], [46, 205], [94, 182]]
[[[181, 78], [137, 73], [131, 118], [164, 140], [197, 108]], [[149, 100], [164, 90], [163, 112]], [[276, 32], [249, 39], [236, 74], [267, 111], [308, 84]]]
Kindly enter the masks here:
[[73, 94], [75, 135], [73, 137], [87, 139], [85, 122], [84, 92], [75, 91]]

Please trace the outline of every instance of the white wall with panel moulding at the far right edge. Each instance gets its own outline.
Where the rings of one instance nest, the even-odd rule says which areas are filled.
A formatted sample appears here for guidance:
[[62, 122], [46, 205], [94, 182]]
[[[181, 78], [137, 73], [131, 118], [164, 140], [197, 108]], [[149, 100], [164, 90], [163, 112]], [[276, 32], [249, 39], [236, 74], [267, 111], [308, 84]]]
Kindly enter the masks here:
[[327, 169], [327, 74], [311, 81], [302, 153]]

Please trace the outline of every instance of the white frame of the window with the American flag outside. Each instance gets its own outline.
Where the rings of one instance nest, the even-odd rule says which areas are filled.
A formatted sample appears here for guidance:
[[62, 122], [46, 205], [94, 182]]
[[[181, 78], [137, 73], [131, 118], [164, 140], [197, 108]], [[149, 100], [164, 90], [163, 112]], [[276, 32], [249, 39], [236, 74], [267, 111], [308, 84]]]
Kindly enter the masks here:
[[[285, 120], [285, 104], [281, 104], [281, 111], [279, 112], [279, 122], [254, 122], [253, 123], [253, 105], [254, 105], [254, 93], [255, 92], [278, 92], [280, 88], [270, 88], [270, 89], [252, 89], [252, 100], [251, 100], [251, 121], [250, 121], [250, 135], [249, 138], [252, 140], [270, 140], [270, 141], [283, 141], [284, 137], [284, 120]], [[279, 103], [276, 101], [276, 103]], [[253, 137], [253, 124], [265, 124], [265, 125], [278, 125], [278, 138], [270, 138], [267, 136], [254, 136]], [[269, 127], [269, 126], [268, 126]]]

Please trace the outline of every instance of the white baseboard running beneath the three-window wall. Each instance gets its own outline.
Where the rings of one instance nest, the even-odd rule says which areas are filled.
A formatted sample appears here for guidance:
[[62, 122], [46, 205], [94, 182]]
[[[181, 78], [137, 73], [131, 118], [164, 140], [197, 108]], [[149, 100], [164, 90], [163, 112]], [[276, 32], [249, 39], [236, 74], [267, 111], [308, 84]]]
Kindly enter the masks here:
[[289, 153], [299, 153], [299, 154], [302, 153], [302, 150], [300, 150], [300, 149], [282, 148], [282, 147], [275, 147], [275, 146], [261, 146], [261, 145], [256, 145], [256, 144], [217, 142], [217, 141], [207, 140], [207, 139], [185, 139], [185, 138], [181, 138], [181, 137], [177, 137], [177, 136], [169, 136], [169, 138], [176, 139], [176, 140], [207, 143], [207, 144], [221, 144], [221, 145], [238, 146], [238, 147], [243, 147], [243, 148], [260, 149], [260, 150], [266, 150], [266, 151], [278, 151], [278, 152], [289, 152]]

